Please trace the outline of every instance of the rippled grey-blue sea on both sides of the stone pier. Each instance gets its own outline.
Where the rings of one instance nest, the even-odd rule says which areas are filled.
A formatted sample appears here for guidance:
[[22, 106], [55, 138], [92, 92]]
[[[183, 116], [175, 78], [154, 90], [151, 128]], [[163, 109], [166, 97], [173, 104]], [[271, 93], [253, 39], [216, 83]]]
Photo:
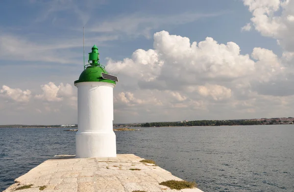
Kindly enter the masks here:
[[[0, 128], [0, 191], [56, 154], [75, 154], [66, 128]], [[117, 152], [154, 160], [204, 192], [294, 192], [294, 125], [115, 131]]]

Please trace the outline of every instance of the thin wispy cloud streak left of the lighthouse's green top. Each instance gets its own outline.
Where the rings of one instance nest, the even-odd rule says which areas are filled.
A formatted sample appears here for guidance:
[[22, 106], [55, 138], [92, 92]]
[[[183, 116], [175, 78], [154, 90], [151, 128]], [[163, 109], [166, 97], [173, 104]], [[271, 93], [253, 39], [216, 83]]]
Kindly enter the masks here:
[[[118, 36], [115, 35], [88, 37], [85, 39], [85, 45], [91, 46], [93, 42], [103, 45], [104, 42], [117, 39]], [[47, 39], [43, 42], [34, 42], [22, 36], [0, 35], [0, 57], [2, 60], [80, 64], [79, 60], [76, 60], [77, 56], [69, 49], [82, 47], [82, 36], [80, 38]], [[18, 57], [15, 57], [16, 53]]]

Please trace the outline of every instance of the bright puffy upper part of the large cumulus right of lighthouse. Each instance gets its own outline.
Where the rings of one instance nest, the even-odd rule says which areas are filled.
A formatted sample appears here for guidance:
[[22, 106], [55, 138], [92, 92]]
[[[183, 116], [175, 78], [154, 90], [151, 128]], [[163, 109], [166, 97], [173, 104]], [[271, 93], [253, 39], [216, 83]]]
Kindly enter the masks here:
[[[266, 81], [283, 70], [272, 51], [255, 48], [251, 55], [255, 62], [249, 55], [240, 54], [240, 47], [233, 42], [219, 44], [206, 38], [190, 43], [189, 38], [161, 31], [154, 34], [153, 45], [154, 49], [138, 49], [123, 61], [109, 60], [107, 68], [137, 79], [141, 88], [168, 90], [219, 85], [222, 81]], [[262, 75], [260, 70], [264, 70]]]

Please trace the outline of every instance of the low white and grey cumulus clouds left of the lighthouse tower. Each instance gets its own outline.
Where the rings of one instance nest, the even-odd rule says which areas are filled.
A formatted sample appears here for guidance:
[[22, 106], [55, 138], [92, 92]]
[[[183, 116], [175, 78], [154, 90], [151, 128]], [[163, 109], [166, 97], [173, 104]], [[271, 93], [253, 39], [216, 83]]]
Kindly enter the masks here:
[[[52, 82], [39, 89], [23, 90], [3, 85], [0, 89], [0, 117], [3, 124], [77, 123], [77, 97], [72, 85]], [[15, 118], [17, 117], [17, 118]]]

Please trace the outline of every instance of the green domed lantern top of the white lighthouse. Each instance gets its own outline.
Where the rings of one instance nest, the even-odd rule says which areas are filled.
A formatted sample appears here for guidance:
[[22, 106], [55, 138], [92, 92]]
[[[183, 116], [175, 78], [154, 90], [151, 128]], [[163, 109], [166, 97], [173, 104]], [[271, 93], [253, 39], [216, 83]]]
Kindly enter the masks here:
[[[92, 63], [90, 63], [92, 61]], [[96, 45], [92, 47], [92, 52], [89, 53], [89, 60], [87, 65], [84, 66], [84, 71], [79, 76], [74, 84], [81, 82], [106, 82], [116, 84], [118, 78], [109, 75], [105, 67], [99, 63], [99, 53]]]

